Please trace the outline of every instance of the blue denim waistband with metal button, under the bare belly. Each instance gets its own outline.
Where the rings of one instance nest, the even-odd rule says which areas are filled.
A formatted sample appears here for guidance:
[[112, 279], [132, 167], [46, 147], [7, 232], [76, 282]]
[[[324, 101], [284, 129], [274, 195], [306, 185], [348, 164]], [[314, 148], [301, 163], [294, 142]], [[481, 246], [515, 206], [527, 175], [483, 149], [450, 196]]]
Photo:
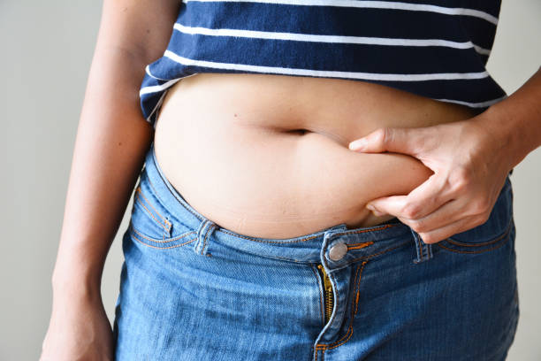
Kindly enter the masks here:
[[[347, 228], [346, 224], [342, 223], [311, 234], [283, 239], [253, 237], [221, 227], [196, 211], [176, 188], [173, 188], [157, 164], [154, 142], [145, 159], [141, 177], [143, 176], [149, 177], [160, 202], [176, 218], [181, 219], [182, 225], [179, 227], [187, 227], [197, 233], [198, 239], [194, 242], [194, 252], [201, 255], [209, 252], [213, 242], [219, 242], [231, 249], [262, 257], [298, 263], [325, 262], [332, 270], [356, 260], [378, 257], [389, 250], [415, 242], [417, 253], [415, 263], [432, 257], [431, 245], [423, 243], [419, 235], [411, 227], [401, 223], [399, 219], [392, 219], [373, 227]], [[501, 212], [495, 212], [495, 217], [491, 219], [491, 226], [498, 227], [497, 224], [505, 223], [504, 217], [499, 213]], [[505, 226], [502, 225], [501, 228], [503, 227]], [[346, 245], [346, 255], [339, 260], [332, 260], [329, 251], [339, 242]], [[345, 249], [344, 245], [340, 245], [339, 248]], [[336, 257], [333, 258], [336, 259]]]

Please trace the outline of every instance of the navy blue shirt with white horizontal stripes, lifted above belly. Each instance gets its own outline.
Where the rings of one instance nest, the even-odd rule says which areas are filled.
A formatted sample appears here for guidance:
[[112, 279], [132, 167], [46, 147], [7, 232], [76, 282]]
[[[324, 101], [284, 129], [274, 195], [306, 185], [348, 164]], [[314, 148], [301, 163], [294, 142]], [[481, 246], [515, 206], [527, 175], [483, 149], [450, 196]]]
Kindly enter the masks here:
[[[507, 97], [487, 73], [501, 0], [183, 0], [146, 66], [143, 116], [196, 73], [369, 81], [479, 112]], [[462, 7], [465, 6], [465, 7]]]

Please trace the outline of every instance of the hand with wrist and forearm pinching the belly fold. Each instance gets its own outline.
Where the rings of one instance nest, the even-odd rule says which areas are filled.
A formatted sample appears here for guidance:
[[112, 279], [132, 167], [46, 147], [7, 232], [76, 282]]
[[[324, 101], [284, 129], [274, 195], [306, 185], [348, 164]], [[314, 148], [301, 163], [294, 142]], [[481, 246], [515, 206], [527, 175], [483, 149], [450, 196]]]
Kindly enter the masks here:
[[[418, 128], [379, 128], [350, 150], [395, 152], [434, 174], [407, 196], [384, 196], [367, 208], [392, 214], [425, 243], [482, 225], [507, 173], [541, 145], [541, 68], [507, 99], [465, 121]], [[371, 208], [370, 208], [371, 207]]]

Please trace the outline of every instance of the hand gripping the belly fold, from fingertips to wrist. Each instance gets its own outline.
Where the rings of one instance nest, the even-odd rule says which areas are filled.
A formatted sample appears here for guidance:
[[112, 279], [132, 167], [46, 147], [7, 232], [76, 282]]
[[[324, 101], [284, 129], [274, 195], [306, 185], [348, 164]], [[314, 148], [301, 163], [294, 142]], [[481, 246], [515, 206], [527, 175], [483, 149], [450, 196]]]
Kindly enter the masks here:
[[[511, 161], [505, 139], [496, 139], [480, 120], [431, 127], [379, 128], [349, 144], [359, 152], [391, 151], [416, 157], [434, 173], [408, 196], [370, 201], [376, 216], [392, 214], [436, 243], [486, 222], [503, 188]], [[400, 174], [397, 174], [400, 176]]]

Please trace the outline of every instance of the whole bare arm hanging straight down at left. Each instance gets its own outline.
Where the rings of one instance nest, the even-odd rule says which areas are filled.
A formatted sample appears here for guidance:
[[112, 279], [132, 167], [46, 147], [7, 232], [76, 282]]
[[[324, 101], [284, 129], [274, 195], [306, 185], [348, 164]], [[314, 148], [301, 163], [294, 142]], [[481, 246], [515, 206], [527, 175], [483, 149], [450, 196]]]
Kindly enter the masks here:
[[[43, 359], [75, 359], [79, 351], [92, 355], [82, 350], [88, 345], [80, 342], [96, 342], [87, 337], [95, 336], [96, 329], [81, 331], [83, 323], [92, 327], [99, 318], [103, 334], [100, 287], [105, 257], [154, 134], [142, 117], [139, 88], [145, 65], [161, 57], [167, 47], [179, 4], [178, 0], [103, 1], [73, 151]], [[83, 313], [94, 317], [81, 322]], [[110, 333], [108, 324], [107, 328]]]

